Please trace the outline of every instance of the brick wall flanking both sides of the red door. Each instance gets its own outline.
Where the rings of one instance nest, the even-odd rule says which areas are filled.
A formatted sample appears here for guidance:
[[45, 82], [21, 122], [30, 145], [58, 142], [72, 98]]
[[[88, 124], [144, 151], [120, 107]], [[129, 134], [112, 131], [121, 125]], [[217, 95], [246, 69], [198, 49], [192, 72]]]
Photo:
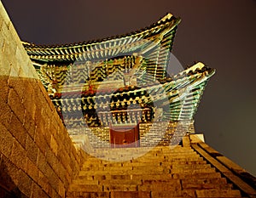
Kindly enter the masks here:
[[[109, 148], [109, 127], [79, 127], [70, 129], [73, 142], [84, 150]], [[140, 123], [140, 146], [177, 145], [186, 133], [195, 133], [194, 121]]]

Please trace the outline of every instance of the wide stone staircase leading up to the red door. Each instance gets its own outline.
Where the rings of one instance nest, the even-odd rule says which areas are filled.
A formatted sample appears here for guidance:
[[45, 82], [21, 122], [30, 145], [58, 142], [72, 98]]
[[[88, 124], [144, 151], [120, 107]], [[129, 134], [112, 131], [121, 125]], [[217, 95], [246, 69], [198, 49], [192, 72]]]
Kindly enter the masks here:
[[[67, 198], [241, 197], [191, 147], [155, 147], [136, 159], [117, 161], [147, 149], [95, 150], [69, 186]], [[95, 157], [104, 153], [109, 161]]]

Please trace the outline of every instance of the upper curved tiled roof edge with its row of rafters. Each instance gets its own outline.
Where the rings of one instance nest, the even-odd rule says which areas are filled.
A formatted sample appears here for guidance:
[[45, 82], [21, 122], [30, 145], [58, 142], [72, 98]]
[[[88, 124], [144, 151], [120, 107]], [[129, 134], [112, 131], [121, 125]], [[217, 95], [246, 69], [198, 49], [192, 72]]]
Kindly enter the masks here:
[[[172, 14], [166, 14], [153, 25], [125, 35], [63, 45], [37, 45], [29, 42], [23, 42], [23, 45], [30, 58], [36, 62], [37, 60], [46, 62], [75, 61], [81, 57], [85, 60], [105, 59], [106, 56], [133, 53], [137, 48], [150, 45], [147, 43], [148, 41], [155, 42], [160, 39], [160, 42], [163, 42], [163, 38], [160, 37], [170, 34], [179, 22], [179, 18], [175, 18]], [[168, 37], [172, 39], [174, 33]]]

